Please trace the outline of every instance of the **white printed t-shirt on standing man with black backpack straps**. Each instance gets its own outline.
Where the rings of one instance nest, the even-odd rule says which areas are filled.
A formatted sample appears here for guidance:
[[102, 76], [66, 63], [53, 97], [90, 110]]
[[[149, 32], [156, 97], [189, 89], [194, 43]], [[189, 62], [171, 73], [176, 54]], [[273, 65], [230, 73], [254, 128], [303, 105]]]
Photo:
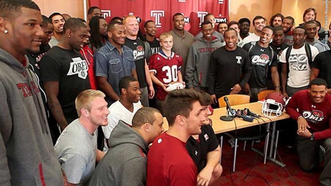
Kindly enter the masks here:
[[[313, 61], [318, 54], [316, 47], [309, 45], [311, 50], [311, 60]], [[285, 48], [279, 58], [279, 62], [286, 63], [286, 52], [288, 48]], [[310, 64], [305, 50], [305, 44], [298, 49], [292, 48], [289, 57], [289, 78], [288, 85], [293, 88], [300, 88], [309, 85], [310, 78]]]

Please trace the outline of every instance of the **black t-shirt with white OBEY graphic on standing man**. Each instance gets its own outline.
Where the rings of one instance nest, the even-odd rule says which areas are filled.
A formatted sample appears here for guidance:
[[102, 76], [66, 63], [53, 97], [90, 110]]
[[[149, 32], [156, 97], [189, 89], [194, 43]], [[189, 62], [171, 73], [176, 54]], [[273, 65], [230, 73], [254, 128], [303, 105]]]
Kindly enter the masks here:
[[42, 82], [59, 82], [58, 100], [68, 124], [78, 118], [75, 99], [90, 89], [88, 65], [76, 50], [54, 46], [40, 62]]

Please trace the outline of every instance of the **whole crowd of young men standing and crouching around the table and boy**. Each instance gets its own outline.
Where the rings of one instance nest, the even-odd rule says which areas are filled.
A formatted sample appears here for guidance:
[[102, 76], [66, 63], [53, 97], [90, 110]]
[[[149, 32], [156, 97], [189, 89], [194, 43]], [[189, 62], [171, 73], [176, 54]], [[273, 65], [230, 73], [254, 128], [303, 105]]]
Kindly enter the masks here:
[[[91, 7], [88, 20], [96, 16]], [[331, 38], [318, 41], [315, 19], [313, 8], [294, 28], [291, 17], [276, 14], [269, 26], [256, 16], [249, 33], [247, 18], [216, 30], [207, 14], [194, 37], [177, 13], [157, 39], [153, 21], [139, 37], [134, 16], [115, 17], [93, 53], [86, 21], [0, 0], [0, 185], [210, 185], [222, 174], [211, 105], [228, 94], [257, 101], [266, 89], [292, 97], [300, 166], [318, 166], [323, 145], [320, 181], [330, 185]]]

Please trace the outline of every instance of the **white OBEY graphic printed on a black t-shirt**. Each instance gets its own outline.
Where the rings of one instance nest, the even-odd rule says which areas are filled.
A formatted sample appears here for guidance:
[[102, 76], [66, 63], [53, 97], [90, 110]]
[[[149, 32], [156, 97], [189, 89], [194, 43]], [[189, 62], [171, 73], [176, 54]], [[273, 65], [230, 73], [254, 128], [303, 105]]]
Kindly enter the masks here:
[[86, 79], [87, 77], [88, 65], [85, 60], [82, 58], [72, 58], [72, 62], [70, 62], [70, 68], [67, 73], [67, 76], [78, 74], [79, 78]]

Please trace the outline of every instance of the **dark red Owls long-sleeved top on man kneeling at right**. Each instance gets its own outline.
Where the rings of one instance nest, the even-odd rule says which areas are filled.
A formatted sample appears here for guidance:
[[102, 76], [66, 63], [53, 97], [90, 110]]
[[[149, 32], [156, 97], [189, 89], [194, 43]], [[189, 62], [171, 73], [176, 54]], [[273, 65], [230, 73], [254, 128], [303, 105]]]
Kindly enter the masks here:
[[331, 137], [330, 94], [326, 94], [322, 103], [313, 103], [308, 90], [298, 91], [287, 104], [286, 112], [296, 121], [299, 116], [304, 117], [310, 126], [308, 130], [314, 134], [315, 140]]

